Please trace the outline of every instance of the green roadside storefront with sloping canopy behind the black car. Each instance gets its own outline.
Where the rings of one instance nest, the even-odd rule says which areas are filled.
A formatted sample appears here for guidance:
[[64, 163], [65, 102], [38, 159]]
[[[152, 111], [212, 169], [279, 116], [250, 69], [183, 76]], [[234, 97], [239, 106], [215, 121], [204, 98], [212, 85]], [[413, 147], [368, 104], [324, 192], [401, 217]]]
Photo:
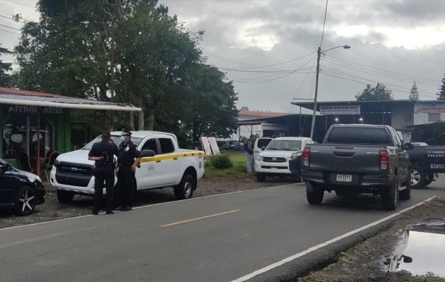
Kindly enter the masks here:
[[1, 157], [39, 174], [52, 152], [71, 150], [71, 109], [141, 111], [129, 104], [0, 87]]

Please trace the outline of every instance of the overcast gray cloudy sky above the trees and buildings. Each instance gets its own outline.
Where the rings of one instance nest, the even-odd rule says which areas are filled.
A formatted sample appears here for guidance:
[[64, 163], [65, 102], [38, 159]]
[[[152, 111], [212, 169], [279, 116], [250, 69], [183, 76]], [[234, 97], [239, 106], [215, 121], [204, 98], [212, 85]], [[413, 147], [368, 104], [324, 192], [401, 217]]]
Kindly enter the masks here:
[[[1, 47], [13, 48], [22, 25], [2, 16], [21, 13], [38, 20], [35, 3], [0, 0]], [[322, 51], [334, 48], [321, 56], [319, 101], [355, 100], [367, 84], [377, 82], [392, 90], [395, 99], [408, 99], [413, 82], [420, 99], [436, 99], [444, 78], [445, 1], [328, 0], [325, 27], [325, 0], [160, 4], [189, 30], [206, 31], [203, 55], [233, 80], [239, 108], [299, 112], [290, 102], [314, 99], [319, 46]], [[351, 48], [340, 47], [345, 44]], [[13, 61], [11, 56], [2, 59]]]

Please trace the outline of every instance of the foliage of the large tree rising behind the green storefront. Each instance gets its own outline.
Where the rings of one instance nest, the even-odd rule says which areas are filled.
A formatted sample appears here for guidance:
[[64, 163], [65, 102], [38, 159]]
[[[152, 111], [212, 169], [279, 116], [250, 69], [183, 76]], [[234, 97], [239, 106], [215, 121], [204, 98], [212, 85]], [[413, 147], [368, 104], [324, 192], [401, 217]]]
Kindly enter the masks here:
[[134, 104], [138, 116], [112, 117], [129, 129], [194, 140], [236, 130], [236, 94], [204, 64], [203, 32], [186, 30], [157, 0], [40, 0], [38, 11], [16, 47], [18, 87]]

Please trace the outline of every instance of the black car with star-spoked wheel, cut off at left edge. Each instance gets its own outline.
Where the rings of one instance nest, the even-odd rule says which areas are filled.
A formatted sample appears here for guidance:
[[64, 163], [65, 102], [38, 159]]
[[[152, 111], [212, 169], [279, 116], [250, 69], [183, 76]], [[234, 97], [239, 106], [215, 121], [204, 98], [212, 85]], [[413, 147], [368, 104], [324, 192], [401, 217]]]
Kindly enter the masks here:
[[9, 207], [18, 216], [35, 211], [45, 202], [45, 186], [34, 173], [20, 171], [0, 159], [0, 207]]

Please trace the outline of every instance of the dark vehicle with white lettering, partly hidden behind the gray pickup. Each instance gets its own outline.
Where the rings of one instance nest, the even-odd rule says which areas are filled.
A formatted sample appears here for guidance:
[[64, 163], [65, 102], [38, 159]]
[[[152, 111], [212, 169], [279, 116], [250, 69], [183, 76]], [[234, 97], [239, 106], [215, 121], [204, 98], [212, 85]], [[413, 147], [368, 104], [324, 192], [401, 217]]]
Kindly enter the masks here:
[[437, 173], [445, 172], [445, 146], [428, 146], [417, 142], [410, 155], [411, 188], [423, 188], [439, 178]]

